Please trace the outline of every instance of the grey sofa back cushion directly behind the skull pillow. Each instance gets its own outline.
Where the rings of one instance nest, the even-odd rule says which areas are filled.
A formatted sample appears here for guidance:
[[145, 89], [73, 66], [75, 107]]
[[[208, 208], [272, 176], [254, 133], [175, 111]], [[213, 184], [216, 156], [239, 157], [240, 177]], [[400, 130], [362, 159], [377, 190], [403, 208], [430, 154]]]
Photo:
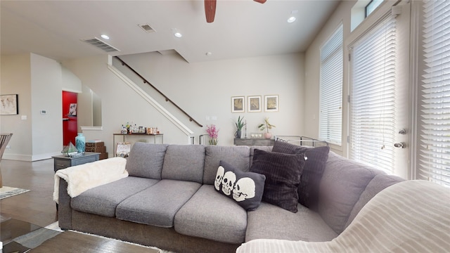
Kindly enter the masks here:
[[250, 169], [250, 148], [248, 146], [218, 146], [209, 145], [205, 148], [205, 171], [203, 172], [203, 183], [214, 184], [219, 162], [229, 163], [240, 171]]

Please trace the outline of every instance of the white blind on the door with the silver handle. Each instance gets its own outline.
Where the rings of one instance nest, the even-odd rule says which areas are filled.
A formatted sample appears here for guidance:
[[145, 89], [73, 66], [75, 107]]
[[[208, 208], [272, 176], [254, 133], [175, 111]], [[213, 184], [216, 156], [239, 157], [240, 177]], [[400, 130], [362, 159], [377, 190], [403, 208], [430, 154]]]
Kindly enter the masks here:
[[396, 21], [385, 18], [352, 49], [350, 150], [353, 160], [394, 171]]

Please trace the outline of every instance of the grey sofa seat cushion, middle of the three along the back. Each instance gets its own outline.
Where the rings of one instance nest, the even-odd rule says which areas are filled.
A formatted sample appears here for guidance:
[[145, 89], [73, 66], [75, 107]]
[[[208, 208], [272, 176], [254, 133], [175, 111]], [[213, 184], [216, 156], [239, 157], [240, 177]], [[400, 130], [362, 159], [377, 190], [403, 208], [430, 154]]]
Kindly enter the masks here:
[[163, 228], [174, 226], [176, 212], [200, 188], [200, 183], [162, 179], [117, 206], [117, 219]]

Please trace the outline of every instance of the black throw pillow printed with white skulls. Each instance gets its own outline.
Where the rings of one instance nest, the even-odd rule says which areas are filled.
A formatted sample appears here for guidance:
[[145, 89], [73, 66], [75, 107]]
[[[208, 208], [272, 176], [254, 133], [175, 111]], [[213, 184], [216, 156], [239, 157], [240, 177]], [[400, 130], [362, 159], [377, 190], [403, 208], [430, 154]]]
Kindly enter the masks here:
[[240, 171], [224, 161], [220, 161], [219, 164], [214, 188], [219, 193], [231, 197], [246, 211], [257, 209], [261, 204], [266, 176]]

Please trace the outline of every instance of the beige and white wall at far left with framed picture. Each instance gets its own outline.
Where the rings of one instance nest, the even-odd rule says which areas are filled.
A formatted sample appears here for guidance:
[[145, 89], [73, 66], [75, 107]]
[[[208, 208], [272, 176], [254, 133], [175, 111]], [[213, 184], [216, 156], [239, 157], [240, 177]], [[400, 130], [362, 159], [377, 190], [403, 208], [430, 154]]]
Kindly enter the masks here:
[[19, 101], [18, 115], [0, 116], [1, 132], [13, 133], [5, 159], [34, 161], [60, 153], [61, 79], [55, 60], [34, 53], [1, 57], [1, 94], [16, 93]]

